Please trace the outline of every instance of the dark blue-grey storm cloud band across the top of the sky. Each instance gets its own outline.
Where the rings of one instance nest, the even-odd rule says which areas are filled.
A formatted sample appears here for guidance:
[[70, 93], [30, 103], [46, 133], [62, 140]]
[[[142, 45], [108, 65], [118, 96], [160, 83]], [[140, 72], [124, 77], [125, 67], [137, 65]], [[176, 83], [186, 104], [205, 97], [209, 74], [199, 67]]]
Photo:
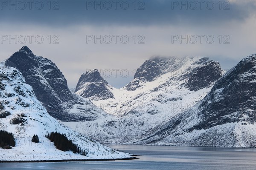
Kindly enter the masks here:
[[[231, 20], [244, 20], [250, 14], [255, 14], [255, 1], [238, 2], [144, 0], [134, 3], [134, 0], [1, 0], [0, 19], [1, 22], [38, 23], [51, 26], [68, 26], [70, 24], [212, 25]], [[95, 6], [96, 4], [99, 5]]]

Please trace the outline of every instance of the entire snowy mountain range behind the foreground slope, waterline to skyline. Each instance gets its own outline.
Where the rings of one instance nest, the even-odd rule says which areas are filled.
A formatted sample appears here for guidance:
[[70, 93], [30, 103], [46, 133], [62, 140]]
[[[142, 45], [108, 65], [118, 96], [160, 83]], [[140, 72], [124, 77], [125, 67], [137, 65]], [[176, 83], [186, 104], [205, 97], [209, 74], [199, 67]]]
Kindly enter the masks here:
[[225, 75], [208, 58], [151, 58], [120, 89], [93, 69], [77, 95], [54, 63], [26, 46], [5, 65], [25, 75], [52, 116], [102, 143], [255, 147], [255, 55]]

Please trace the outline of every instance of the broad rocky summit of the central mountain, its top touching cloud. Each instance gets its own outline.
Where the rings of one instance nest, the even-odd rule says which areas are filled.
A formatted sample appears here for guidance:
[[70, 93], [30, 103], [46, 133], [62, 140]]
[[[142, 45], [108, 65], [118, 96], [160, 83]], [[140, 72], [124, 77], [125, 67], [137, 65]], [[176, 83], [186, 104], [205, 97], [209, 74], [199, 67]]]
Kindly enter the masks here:
[[[136, 71], [134, 80], [125, 86], [128, 90], [136, 90], [145, 82], [155, 81], [166, 73], [183, 74], [179, 81], [189, 78], [183, 86], [197, 91], [209, 87], [223, 74], [217, 61], [207, 57], [154, 57], [145, 61]], [[184, 74], [185, 73], [185, 74]]]

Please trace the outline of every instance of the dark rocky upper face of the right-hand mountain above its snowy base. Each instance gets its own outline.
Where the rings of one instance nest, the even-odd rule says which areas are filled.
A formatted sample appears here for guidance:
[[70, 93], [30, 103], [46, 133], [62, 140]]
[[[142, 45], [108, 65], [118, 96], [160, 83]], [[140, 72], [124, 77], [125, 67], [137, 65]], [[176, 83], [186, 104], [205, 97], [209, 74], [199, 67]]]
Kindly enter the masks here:
[[256, 123], [256, 56], [250, 55], [230, 69], [204, 98], [201, 118], [195, 129], [228, 122]]

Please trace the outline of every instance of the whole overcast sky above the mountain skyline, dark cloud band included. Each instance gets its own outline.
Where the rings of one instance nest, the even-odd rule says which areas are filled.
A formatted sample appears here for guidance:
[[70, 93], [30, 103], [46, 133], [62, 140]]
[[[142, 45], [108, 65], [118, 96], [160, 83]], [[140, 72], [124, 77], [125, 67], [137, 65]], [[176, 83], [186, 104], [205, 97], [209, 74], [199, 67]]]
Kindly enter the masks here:
[[208, 56], [230, 69], [255, 54], [256, 1], [1, 0], [0, 35], [0, 61], [26, 45], [69, 87], [97, 68], [119, 88], [152, 56]]

